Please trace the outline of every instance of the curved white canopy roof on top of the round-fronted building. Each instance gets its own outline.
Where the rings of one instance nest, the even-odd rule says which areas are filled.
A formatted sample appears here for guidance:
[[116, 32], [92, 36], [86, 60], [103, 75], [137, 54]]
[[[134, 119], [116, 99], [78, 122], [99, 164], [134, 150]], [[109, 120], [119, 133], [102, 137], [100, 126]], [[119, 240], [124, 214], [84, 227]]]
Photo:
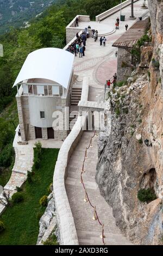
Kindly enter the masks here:
[[[68, 87], [74, 55], [59, 48], [41, 48], [29, 53], [14, 83], [32, 78], [51, 80]], [[13, 87], [14, 87], [13, 86]]]

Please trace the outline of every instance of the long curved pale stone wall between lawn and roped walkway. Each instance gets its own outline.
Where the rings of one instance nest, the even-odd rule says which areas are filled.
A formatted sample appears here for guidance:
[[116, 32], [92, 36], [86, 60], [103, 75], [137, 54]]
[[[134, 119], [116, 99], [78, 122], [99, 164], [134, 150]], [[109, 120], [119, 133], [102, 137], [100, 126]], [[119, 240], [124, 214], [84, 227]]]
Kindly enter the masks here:
[[60, 148], [58, 160], [55, 164], [53, 192], [57, 211], [58, 228], [60, 231], [60, 245], [78, 245], [78, 236], [70, 204], [68, 202], [65, 179], [67, 176], [68, 160], [80, 141], [85, 121], [85, 115], [78, 117], [70, 135], [68, 135]]

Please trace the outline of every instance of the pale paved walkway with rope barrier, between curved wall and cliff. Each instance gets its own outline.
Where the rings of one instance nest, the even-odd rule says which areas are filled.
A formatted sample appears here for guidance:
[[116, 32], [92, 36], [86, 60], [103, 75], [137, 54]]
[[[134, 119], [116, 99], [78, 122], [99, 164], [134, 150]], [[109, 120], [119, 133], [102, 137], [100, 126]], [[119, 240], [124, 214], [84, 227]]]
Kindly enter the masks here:
[[[102, 227], [98, 221], [93, 221], [93, 208], [84, 202], [84, 189], [80, 184], [80, 172], [84, 160], [85, 148], [88, 146], [93, 132], [84, 132], [76, 150], [68, 163], [66, 191], [76, 224], [79, 245], [103, 245], [100, 235]], [[97, 137], [93, 138], [93, 148], [88, 150], [85, 161], [84, 184], [93, 205], [96, 205], [99, 220], [104, 224], [105, 245], [130, 245], [131, 243], [121, 234], [115, 225], [112, 210], [99, 193], [95, 181], [97, 155]]]

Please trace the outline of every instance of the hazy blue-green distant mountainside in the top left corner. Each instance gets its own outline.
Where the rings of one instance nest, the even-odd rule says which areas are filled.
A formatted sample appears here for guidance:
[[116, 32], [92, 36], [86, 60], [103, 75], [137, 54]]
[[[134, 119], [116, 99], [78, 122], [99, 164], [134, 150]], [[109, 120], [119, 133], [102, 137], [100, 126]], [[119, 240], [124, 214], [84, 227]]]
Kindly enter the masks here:
[[55, 0], [0, 0], [0, 34], [11, 26], [23, 26], [23, 22], [42, 13], [53, 3]]

